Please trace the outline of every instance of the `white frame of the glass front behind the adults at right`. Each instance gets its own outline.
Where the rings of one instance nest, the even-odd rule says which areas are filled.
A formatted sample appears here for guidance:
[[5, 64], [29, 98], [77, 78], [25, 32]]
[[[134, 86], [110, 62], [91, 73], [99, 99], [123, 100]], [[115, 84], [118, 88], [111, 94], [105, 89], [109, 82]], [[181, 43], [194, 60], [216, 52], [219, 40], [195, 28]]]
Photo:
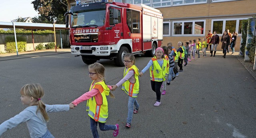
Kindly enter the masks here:
[[[236, 20], [236, 32], [238, 33], [238, 29], [239, 29], [239, 21], [240, 20], [247, 20], [248, 18], [228, 18], [228, 19], [212, 19], [212, 22], [211, 22], [211, 30], [212, 32], [214, 32], [213, 30], [213, 22], [214, 21], [223, 21], [223, 24], [222, 24], [222, 34], [224, 33], [225, 29], [226, 29], [226, 21], [230, 21], [230, 20]], [[230, 32], [232, 33], [232, 32]], [[219, 36], [222, 35], [222, 34], [218, 34]], [[238, 36], [241, 36], [242, 34], [238, 34]]]

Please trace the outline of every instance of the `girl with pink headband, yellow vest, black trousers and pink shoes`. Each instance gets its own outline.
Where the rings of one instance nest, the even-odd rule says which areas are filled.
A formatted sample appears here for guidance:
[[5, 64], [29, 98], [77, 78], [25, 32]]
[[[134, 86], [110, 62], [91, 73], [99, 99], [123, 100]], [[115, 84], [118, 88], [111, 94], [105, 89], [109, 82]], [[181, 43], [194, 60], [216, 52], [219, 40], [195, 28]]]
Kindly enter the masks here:
[[156, 48], [156, 54], [148, 62], [147, 66], [140, 72], [142, 76], [148, 69], [150, 69], [151, 88], [156, 92], [156, 103], [154, 106], [160, 106], [161, 102], [161, 85], [165, 80], [167, 61], [164, 59], [163, 48]]

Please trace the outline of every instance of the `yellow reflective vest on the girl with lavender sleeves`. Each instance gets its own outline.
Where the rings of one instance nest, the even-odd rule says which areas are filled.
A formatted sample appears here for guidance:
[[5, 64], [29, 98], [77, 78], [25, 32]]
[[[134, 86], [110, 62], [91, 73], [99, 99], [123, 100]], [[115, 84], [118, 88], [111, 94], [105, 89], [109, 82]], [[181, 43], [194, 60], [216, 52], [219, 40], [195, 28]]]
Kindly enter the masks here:
[[126, 92], [126, 94], [128, 94], [130, 97], [133, 97], [133, 98], [136, 98], [139, 94], [139, 86], [140, 86], [140, 83], [139, 83], [139, 78], [138, 76], [140, 75], [139, 74], [139, 70], [138, 68], [133, 65], [131, 66], [130, 68], [128, 68], [127, 71], [125, 71], [125, 68], [124, 68], [124, 77], [126, 76], [126, 74], [130, 71], [130, 70], [133, 70], [134, 71], [134, 77], [135, 77], [135, 83], [132, 84], [129, 82], [129, 80], [126, 80], [126, 82], [124, 82], [122, 84], [122, 90], [124, 90], [124, 92]]

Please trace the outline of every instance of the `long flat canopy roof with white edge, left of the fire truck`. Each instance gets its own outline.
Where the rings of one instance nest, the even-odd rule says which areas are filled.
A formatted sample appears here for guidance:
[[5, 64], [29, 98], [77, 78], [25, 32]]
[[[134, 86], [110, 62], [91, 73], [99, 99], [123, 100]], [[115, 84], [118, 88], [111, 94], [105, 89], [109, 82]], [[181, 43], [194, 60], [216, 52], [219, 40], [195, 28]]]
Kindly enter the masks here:
[[[0, 22], [0, 28], [14, 28], [12, 22]], [[15, 28], [54, 30], [53, 24], [15, 22]], [[55, 30], [69, 30], [65, 24], [55, 24]]]

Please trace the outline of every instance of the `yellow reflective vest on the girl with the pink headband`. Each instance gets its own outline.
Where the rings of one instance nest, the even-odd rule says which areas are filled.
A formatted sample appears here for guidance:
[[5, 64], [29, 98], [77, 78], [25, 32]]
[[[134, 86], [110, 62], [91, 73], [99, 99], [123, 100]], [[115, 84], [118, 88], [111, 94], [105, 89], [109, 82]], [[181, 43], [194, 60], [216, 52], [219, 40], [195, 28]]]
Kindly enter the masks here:
[[150, 80], [156, 82], [165, 81], [167, 61], [162, 58], [163, 65], [161, 68], [161, 66], [157, 62], [156, 56], [154, 56], [154, 58], [151, 58], [151, 60], [153, 61], [153, 65], [150, 66]]

